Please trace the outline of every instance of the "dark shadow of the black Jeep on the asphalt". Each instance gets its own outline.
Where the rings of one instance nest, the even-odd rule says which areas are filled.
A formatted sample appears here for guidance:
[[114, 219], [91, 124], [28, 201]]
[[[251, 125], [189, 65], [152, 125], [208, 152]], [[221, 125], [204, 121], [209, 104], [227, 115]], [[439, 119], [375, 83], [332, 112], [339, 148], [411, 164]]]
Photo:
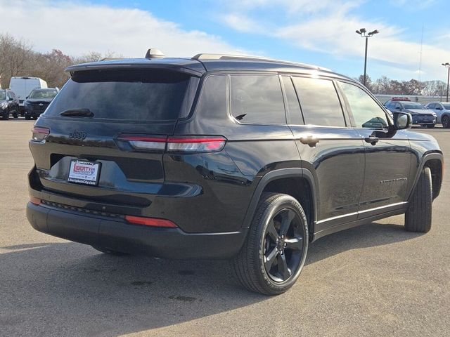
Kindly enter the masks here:
[[[307, 264], [418, 235], [370, 223], [311, 244]], [[43, 330], [52, 336], [120, 336], [272, 301], [242, 289], [226, 261], [116, 257], [75, 243], [1, 249], [0, 265], [8, 270], [0, 276], [4, 336]]]

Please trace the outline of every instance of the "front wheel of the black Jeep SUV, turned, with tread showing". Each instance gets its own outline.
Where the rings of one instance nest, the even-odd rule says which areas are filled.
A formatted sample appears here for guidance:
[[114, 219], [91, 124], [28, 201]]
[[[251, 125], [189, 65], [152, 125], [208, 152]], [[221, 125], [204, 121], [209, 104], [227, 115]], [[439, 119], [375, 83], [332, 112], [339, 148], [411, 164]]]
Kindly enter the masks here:
[[428, 167], [420, 173], [416, 189], [409, 200], [408, 210], [405, 214], [405, 228], [410, 232], [429, 232], [432, 215], [432, 180], [431, 170]]

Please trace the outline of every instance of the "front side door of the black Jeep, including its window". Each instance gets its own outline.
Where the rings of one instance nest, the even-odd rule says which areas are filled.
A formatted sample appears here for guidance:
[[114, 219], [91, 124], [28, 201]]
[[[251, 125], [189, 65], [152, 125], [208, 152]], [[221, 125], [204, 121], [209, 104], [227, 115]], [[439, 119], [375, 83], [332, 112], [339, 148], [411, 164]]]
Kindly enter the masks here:
[[402, 208], [411, 164], [407, 131], [388, 131], [390, 117], [364, 88], [347, 81], [340, 81], [339, 86], [366, 150], [359, 218]]

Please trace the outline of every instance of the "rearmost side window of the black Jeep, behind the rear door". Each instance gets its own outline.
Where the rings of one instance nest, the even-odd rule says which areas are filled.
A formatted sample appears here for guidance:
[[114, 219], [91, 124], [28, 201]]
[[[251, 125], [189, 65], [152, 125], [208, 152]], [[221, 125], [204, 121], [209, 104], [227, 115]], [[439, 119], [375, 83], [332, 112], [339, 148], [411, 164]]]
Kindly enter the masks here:
[[243, 123], [285, 124], [278, 76], [231, 76], [231, 114]]

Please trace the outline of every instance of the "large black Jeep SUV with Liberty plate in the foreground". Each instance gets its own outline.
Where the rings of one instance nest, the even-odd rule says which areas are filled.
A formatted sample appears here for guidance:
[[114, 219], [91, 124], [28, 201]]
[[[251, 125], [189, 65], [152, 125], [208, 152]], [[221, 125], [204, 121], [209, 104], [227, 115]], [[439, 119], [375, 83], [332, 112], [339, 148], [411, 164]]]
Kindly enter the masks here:
[[266, 294], [326, 234], [403, 213], [406, 230], [430, 230], [439, 145], [352, 79], [151, 52], [68, 72], [30, 140], [36, 230], [104, 253], [230, 258]]

